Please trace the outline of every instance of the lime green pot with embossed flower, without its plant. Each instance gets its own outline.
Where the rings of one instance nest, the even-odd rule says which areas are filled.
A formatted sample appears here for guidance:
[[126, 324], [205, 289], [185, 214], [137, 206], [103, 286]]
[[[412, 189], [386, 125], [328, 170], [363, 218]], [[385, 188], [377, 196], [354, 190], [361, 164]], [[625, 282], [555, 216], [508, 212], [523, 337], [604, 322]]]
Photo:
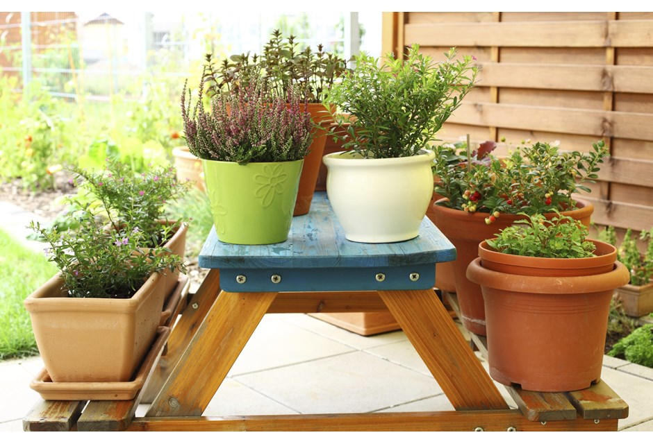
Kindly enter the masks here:
[[202, 160], [215, 232], [227, 244], [277, 244], [288, 239], [304, 160]]

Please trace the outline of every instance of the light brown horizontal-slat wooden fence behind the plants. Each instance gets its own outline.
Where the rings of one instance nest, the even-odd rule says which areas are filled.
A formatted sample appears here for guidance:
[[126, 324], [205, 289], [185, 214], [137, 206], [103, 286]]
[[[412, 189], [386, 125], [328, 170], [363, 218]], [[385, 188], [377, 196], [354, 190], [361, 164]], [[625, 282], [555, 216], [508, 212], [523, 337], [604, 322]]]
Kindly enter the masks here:
[[[387, 14], [387, 13], [386, 13]], [[397, 14], [397, 13], [395, 13]], [[438, 135], [455, 141], [559, 140], [611, 159], [588, 195], [593, 221], [653, 226], [653, 12], [401, 12], [402, 42], [442, 60], [456, 46], [481, 67]]]

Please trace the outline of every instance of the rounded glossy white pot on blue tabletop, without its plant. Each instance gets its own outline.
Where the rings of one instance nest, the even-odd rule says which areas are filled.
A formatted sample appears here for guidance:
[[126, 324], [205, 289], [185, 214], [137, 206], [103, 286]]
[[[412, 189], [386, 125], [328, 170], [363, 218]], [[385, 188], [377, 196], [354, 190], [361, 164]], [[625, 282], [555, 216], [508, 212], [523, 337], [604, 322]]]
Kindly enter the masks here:
[[417, 237], [433, 196], [434, 157], [428, 150], [395, 159], [325, 155], [327, 196], [345, 237], [370, 244]]

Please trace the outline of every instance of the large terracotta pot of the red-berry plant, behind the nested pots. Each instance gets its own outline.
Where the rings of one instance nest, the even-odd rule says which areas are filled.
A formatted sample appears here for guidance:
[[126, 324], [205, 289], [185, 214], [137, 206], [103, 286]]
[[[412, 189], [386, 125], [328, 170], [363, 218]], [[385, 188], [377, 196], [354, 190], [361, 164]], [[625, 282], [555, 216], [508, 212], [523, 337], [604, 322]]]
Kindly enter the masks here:
[[[453, 275], [456, 287], [456, 296], [461, 309], [461, 321], [464, 327], [472, 333], [486, 335], [485, 308], [483, 307], [483, 295], [481, 287], [468, 280], [467, 267], [479, 256], [479, 244], [486, 239], [492, 239], [495, 234], [512, 225], [515, 221], [524, 219], [519, 214], [502, 214], [495, 223], [485, 223], [487, 213], [468, 213], [463, 210], [438, 205], [444, 199], [438, 200], [433, 205], [433, 223], [445, 234], [445, 237], [456, 247], [456, 260], [453, 262]], [[584, 225], [589, 226], [590, 217], [594, 212], [594, 205], [587, 200], [577, 200], [577, 209], [562, 212], [565, 216], [571, 216]], [[547, 213], [548, 219], [556, 216], [555, 213]]]

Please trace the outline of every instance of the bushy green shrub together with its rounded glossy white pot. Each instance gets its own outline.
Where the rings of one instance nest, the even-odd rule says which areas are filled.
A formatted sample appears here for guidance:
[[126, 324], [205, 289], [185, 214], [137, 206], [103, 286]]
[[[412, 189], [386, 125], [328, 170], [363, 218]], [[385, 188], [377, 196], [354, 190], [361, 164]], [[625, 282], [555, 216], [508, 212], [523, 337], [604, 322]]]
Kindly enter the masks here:
[[[413, 45], [406, 60], [356, 56], [356, 69], [333, 85], [327, 103], [349, 114], [351, 151], [324, 156], [327, 194], [350, 241], [412, 239], [433, 195], [427, 147], [468, 94], [477, 76], [472, 58], [433, 63]], [[336, 114], [334, 114], [334, 117]], [[338, 136], [337, 133], [333, 133]]]

